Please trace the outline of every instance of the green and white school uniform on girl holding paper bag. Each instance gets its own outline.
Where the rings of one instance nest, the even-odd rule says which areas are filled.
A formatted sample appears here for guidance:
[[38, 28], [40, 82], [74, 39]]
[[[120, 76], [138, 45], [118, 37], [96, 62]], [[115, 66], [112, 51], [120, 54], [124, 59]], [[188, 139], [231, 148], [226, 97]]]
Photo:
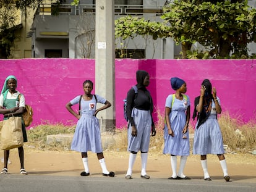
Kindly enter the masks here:
[[[25, 98], [23, 94], [20, 94], [20, 99], [19, 99], [19, 94], [20, 94], [19, 91], [17, 91], [14, 94], [11, 94], [10, 92], [8, 92], [5, 101], [4, 101], [3, 94], [1, 94], [0, 106], [6, 109], [11, 109], [13, 107], [25, 107]], [[20, 115], [20, 117], [22, 117], [22, 115]], [[8, 117], [4, 117], [4, 119], [8, 119]], [[26, 131], [23, 119], [22, 119], [22, 133], [23, 133], [23, 142], [27, 142], [28, 141], [27, 131]]]

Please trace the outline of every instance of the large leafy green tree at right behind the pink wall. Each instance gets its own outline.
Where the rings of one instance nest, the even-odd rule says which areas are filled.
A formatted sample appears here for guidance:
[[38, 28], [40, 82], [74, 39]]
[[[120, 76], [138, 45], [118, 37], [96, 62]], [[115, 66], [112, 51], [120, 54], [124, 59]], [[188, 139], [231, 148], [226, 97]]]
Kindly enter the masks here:
[[170, 25], [183, 57], [198, 41], [212, 48], [217, 58], [247, 57], [247, 44], [255, 41], [255, 9], [247, 1], [177, 1], [164, 7], [162, 19]]

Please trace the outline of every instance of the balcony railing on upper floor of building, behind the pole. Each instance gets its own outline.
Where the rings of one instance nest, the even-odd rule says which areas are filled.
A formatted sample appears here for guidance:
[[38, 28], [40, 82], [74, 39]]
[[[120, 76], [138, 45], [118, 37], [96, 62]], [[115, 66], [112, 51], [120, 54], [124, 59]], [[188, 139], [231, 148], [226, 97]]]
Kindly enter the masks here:
[[[71, 6], [70, 4], [40, 4], [36, 10], [36, 15], [80, 15], [84, 13], [95, 14], [95, 5], [79, 4]], [[142, 5], [114, 5], [114, 14], [116, 15], [143, 15], [163, 13], [162, 7], [143, 7]]]

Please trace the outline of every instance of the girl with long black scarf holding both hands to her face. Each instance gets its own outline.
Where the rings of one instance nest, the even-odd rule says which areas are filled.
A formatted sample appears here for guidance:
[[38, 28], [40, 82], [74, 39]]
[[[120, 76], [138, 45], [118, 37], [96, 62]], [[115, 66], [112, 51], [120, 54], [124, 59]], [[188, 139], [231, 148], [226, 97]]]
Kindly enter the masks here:
[[201, 155], [205, 181], [211, 181], [207, 169], [207, 154], [216, 154], [218, 156], [223, 170], [224, 180], [226, 182], [230, 180], [224, 157], [223, 138], [217, 120], [217, 114], [220, 113], [220, 98], [216, 96], [216, 88], [211, 88], [210, 81], [205, 79], [200, 88], [200, 96], [195, 98], [195, 110], [193, 114], [193, 119], [197, 117], [193, 154]]

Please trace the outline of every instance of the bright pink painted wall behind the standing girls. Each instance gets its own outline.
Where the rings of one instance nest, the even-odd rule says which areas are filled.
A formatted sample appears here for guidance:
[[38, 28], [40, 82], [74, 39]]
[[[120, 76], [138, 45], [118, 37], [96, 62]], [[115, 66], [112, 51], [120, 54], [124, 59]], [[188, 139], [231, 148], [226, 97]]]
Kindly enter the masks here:
[[[83, 93], [84, 80], [95, 81], [94, 65], [93, 59], [0, 60], [0, 86], [8, 75], [18, 78], [17, 90], [33, 107], [32, 126], [44, 122], [73, 123], [76, 120], [67, 112], [65, 104]], [[168, 94], [174, 93], [171, 77], [186, 81], [187, 94], [192, 100], [191, 114], [200, 84], [208, 78], [216, 86], [223, 111], [244, 122], [255, 119], [255, 67], [256, 60], [116, 60], [116, 126], [126, 124], [122, 100], [127, 90], [135, 85], [138, 69], [150, 73], [148, 90], [161, 112]]]

